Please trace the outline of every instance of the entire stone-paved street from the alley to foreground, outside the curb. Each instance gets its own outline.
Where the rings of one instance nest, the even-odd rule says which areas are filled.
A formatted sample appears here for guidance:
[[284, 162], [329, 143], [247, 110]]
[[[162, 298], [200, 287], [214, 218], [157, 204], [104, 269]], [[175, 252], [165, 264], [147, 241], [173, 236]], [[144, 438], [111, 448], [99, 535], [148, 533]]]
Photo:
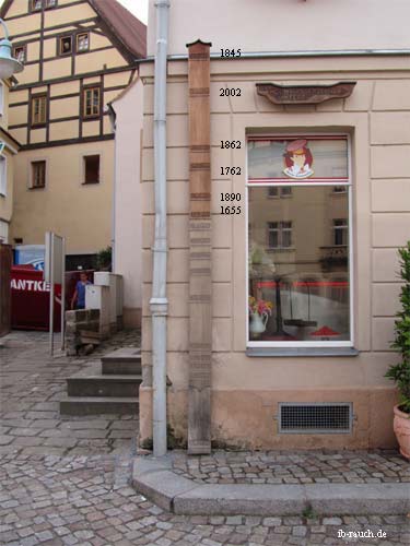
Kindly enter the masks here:
[[[67, 376], [98, 354], [134, 343], [136, 333], [121, 333], [91, 358], [50, 359], [45, 334], [7, 337], [0, 348], [1, 546], [410, 544], [406, 517], [176, 517], [138, 495], [128, 485], [137, 422], [58, 414]], [[375, 537], [343, 538], [341, 532]]]

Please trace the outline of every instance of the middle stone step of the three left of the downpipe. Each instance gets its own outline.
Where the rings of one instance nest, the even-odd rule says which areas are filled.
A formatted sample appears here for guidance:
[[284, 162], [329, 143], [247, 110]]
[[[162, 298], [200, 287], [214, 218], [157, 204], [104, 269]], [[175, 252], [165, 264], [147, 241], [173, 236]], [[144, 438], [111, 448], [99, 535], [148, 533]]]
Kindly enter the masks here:
[[133, 397], [138, 396], [141, 383], [141, 375], [103, 376], [99, 363], [95, 363], [67, 379], [67, 393], [69, 396]]

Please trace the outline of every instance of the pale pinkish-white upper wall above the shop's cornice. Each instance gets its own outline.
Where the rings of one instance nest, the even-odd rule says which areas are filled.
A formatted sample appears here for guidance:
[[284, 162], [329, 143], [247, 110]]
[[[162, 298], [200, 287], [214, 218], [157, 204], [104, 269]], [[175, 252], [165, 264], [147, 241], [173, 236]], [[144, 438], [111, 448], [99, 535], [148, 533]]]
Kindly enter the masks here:
[[[409, 48], [409, 17], [407, 0], [175, 0], [168, 52], [186, 54], [198, 38], [214, 54]], [[155, 19], [150, 0], [148, 55], [155, 54]]]

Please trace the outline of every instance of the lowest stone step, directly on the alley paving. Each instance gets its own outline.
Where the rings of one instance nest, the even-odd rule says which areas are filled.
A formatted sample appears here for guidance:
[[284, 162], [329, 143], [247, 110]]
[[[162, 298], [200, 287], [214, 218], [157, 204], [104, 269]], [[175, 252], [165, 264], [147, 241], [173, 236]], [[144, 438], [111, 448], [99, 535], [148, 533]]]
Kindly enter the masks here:
[[60, 401], [61, 415], [137, 415], [137, 396], [67, 396]]

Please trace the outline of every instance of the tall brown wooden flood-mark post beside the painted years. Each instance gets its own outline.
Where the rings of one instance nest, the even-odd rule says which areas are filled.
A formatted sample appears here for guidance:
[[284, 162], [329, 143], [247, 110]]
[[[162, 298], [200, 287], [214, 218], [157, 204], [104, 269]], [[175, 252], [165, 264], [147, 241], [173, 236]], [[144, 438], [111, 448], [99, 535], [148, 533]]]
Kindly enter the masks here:
[[188, 44], [189, 83], [189, 394], [188, 453], [211, 451], [210, 47]]

